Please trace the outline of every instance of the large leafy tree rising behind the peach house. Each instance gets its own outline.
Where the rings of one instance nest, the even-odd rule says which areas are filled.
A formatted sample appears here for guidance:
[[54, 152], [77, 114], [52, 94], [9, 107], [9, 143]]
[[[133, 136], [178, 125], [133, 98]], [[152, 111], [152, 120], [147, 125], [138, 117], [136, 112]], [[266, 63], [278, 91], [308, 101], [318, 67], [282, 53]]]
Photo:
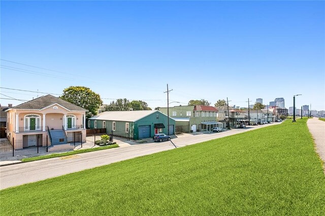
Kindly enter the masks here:
[[97, 115], [97, 110], [103, 104], [99, 94], [84, 86], [70, 86], [63, 90], [60, 98], [88, 110], [86, 118]]

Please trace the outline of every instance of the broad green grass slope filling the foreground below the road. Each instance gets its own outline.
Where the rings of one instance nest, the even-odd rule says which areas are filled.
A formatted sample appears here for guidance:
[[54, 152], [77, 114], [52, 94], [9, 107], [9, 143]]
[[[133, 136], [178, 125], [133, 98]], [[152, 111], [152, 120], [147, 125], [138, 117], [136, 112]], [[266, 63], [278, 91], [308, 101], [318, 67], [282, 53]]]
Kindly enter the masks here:
[[0, 191], [3, 215], [324, 215], [307, 119]]

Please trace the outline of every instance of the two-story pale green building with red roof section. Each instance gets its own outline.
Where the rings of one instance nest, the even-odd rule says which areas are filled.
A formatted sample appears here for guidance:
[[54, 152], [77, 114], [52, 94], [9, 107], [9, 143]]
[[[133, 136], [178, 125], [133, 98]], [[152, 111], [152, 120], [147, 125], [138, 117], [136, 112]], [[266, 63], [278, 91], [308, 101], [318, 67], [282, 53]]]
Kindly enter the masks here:
[[[167, 115], [167, 107], [160, 107], [159, 111]], [[169, 116], [176, 122], [176, 133], [188, 133], [196, 131], [212, 131], [213, 127], [219, 127], [217, 112], [213, 106], [173, 106], [169, 107]]]

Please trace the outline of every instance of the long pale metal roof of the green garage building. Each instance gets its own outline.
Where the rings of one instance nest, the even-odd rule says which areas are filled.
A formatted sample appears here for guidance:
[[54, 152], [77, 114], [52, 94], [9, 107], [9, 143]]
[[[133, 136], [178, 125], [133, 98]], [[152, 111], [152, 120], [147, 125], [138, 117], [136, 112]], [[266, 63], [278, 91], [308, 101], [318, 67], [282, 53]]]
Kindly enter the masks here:
[[[89, 118], [89, 120], [106, 120], [106, 121], [123, 121], [136, 122], [146, 116], [149, 116], [157, 110], [139, 110], [139, 111], [106, 111], [97, 116]], [[163, 114], [163, 113], [161, 113]], [[165, 114], [163, 114], [165, 115]]]

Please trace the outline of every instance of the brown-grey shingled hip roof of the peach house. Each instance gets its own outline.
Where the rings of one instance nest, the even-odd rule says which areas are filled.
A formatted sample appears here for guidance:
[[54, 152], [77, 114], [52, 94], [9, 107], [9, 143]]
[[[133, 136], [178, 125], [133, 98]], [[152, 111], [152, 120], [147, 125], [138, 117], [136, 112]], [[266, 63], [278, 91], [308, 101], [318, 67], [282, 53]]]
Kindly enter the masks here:
[[58, 104], [64, 108], [66, 108], [69, 111], [85, 111], [88, 112], [88, 110], [83, 109], [80, 106], [77, 106], [73, 103], [70, 103], [68, 101], [62, 100], [61, 98], [55, 97], [53, 95], [44, 95], [41, 97], [38, 97], [34, 100], [29, 100], [25, 103], [19, 104], [17, 106], [12, 107], [12, 109], [16, 110], [43, 110], [46, 107]]

